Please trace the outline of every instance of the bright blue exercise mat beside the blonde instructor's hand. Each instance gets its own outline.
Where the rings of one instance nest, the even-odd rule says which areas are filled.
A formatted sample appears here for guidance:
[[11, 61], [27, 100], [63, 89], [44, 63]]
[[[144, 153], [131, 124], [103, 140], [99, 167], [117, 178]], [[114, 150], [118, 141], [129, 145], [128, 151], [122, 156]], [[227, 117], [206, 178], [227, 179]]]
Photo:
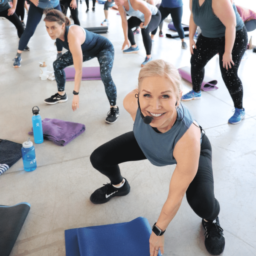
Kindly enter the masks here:
[[143, 217], [65, 230], [66, 256], [149, 256], [150, 234], [151, 227]]

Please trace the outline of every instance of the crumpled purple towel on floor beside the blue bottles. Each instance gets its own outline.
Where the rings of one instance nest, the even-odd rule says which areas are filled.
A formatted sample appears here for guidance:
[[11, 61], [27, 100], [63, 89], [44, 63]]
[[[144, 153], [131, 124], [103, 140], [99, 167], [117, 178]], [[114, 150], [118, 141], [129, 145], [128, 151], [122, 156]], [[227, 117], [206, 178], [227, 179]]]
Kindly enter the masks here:
[[[85, 131], [85, 125], [66, 122], [59, 119], [45, 118], [42, 120], [44, 139], [51, 140], [58, 146], [65, 146]], [[29, 135], [33, 135], [32, 131]]]

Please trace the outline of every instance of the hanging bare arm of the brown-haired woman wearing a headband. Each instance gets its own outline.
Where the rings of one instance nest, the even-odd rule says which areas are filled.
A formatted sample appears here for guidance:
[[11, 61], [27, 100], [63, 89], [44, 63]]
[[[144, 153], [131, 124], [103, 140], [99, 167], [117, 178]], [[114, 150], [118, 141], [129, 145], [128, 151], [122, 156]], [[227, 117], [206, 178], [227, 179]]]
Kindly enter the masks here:
[[[74, 90], [79, 92], [81, 79], [82, 79], [82, 64], [83, 64], [83, 52], [81, 44], [84, 43], [85, 35], [79, 26], [72, 26], [69, 29], [67, 35], [67, 41], [69, 44], [70, 52], [73, 57], [74, 67], [76, 70], [75, 74], [75, 87]], [[73, 111], [79, 108], [79, 95], [73, 96], [72, 109]]]

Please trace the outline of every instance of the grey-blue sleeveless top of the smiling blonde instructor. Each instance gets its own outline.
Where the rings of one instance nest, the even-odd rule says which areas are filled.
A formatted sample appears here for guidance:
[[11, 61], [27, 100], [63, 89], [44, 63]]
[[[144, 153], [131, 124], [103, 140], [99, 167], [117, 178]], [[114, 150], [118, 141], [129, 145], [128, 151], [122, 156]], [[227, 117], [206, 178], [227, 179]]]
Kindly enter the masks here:
[[[146, 125], [138, 108], [134, 122], [134, 136], [145, 157], [155, 166], [177, 164], [173, 150], [176, 143], [185, 134], [195, 120], [186, 106], [177, 108], [177, 121], [169, 131], [159, 134], [150, 125]], [[184, 118], [183, 117], [184, 109]], [[181, 121], [178, 121], [182, 119]]]

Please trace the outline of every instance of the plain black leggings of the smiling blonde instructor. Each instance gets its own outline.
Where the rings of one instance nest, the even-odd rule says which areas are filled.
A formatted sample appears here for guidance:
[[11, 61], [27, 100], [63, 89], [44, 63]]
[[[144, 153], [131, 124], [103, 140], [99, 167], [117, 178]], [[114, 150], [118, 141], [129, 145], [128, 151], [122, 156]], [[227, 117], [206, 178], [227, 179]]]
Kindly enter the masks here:
[[[114, 185], [122, 182], [119, 163], [145, 159], [133, 131], [101, 145], [90, 156], [93, 167], [106, 175]], [[198, 171], [186, 191], [186, 198], [190, 207], [201, 218], [217, 218], [220, 205], [214, 197], [212, 147], [206, 135], [201, 143]]]

